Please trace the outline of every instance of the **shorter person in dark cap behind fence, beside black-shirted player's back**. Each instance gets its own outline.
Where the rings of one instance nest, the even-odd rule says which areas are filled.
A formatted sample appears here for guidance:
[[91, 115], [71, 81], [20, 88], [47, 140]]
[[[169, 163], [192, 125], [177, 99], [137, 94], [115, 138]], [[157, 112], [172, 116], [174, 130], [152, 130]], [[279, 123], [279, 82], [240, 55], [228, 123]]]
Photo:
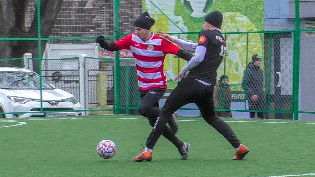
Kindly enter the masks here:
[[[213, 100], [216, 109], [231, 109], [231, 88], [227, 75], [220, 76], [213, 92]], [[232, 117], [231, 111], [215, 111], [215, 113], [219, 117]]]

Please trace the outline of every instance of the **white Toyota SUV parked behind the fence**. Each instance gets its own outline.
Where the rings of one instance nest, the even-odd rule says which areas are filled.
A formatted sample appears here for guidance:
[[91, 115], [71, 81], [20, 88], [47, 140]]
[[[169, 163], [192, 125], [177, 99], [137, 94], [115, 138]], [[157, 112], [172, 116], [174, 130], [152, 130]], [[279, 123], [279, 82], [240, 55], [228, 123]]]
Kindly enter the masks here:
[[[71, 93], [55, 88], [37, 73], [24, 68], [0, 67], [0, 117], [77, 116], [80, 102]], [[42, 99], [42, 102], [41, 102]], [[40, 113], [53, 111], [50, 113]], [[58, 112], [61, 111], [61, 112]], [[37, 112], [37, 113], [36, 113]]]

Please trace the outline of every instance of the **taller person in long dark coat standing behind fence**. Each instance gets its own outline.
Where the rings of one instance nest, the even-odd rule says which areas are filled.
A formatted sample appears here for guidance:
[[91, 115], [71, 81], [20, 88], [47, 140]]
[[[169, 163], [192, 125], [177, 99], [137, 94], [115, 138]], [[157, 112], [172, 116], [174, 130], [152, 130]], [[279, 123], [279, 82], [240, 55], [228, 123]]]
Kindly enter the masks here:
[[264, 113], [259, 110], [266, 110], [266, 95], [263, 91], [264, 76], [260, 68], [261, 57], [258, 54], [252, 56], [252, 62], [244, 71], [242, 87], [247, 93], [249, 103], [250, 118], [255, 117], [255, 112], [259, 119], [264, 119]]

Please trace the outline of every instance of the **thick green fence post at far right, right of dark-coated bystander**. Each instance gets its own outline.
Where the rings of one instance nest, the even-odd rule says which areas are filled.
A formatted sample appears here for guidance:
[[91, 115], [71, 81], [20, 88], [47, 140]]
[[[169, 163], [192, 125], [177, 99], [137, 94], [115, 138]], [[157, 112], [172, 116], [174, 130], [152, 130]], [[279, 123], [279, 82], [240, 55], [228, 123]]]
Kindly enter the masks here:
[[299, 0], [295, 0], [295, 31], [293, 42], [293, 118], [299, 119], [299, 77], [300, 77], [300, 10]]

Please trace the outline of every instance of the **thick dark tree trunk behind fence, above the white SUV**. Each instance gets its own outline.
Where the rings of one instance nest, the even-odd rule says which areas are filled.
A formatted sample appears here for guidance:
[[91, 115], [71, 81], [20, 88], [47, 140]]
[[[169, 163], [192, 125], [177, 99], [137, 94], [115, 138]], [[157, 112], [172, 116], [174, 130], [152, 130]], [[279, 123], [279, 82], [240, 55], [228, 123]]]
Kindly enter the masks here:
[[[54, 27], [63, 0], [41, 0], [41, 37], [49, 37]], [[34, 20], [28, 31], [25, 29], [25, 13], [28, 0], [1, 0], [0, 3], [0, 36], [4, 38], [37, 38], [37, 8]], [[3, 23], [4, 22], [4, 25]], [[42, 41], [41, 50], [45, 50], [47, 41]], [[32, 53], [38, 58], [38, 41], [10, 41], [0, 43], [0, 58], [19, 58], [24, 53]], [[37, 61], [37, 60], [34, 60]], [[11, 64], [12, 67], [21, 67], [21, 61]], [[38, 61], [34, 63], [38, 71]]]

